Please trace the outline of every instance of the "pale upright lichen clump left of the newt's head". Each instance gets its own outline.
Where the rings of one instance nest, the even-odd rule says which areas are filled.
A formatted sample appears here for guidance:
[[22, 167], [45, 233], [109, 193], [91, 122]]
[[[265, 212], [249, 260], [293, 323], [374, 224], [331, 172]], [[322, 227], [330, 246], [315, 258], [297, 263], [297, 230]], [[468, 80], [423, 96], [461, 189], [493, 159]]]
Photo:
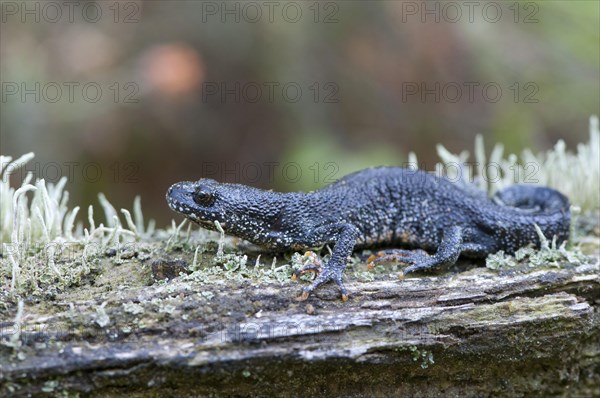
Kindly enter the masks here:
[[13, 161], [9, 156], [0, 156], [0, 286], [8, 287], [12, 294], [53, 295], [77, 285], [97, 267], [107, 250], [120, 254], [120, 248], [154, 231], [153, 221], [144, 228], [139, 197], [134, 200], [133, 218], [127, 210], [121, 210], [128, 226], [124, 228], [103, 194], [98, 199], [107, 226], [96, 227], [90, 206], [88, 228], [79, 223], [74, 230], [80, 207], [67, 206], [66, 177], [52, 184], [43, 179], [33, 181], [33, 174], [28, 172], [19, 187], [11, 186], [11, 175], [33, 157], [28, 153]]

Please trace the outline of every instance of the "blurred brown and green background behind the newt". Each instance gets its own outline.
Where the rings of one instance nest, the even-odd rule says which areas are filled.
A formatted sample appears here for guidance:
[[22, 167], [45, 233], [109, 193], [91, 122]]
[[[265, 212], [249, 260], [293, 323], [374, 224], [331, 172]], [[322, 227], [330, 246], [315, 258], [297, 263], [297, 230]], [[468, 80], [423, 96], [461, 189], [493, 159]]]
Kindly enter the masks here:
[[[310, 190], [435, 144], [571, 149], [600, 112], [600, 3], [3, 1], [1, 152], [71, 206], [212, 177]], [[21, 178], [23, 175], [17, 175]]]

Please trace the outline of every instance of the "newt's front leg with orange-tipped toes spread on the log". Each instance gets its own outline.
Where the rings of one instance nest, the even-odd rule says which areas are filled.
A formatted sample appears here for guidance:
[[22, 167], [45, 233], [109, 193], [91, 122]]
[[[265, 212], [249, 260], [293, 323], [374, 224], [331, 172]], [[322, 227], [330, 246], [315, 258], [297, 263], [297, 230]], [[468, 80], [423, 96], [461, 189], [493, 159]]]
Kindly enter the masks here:
[[309, 263], [294, 272], [294, 278], [304, 272], [317, 273], [317, 277], [312, 284], [302, 289], [302, 295], [299, 297], [299, 300], [306, 300], [313, 290], [329, 281], [333, 281], [338, 285], [342, 294], [342, 300], [348, 300], [348, 292], [344, 287], [342, 278], [344, 269], [346, 269], [346, 262], [348, 261], [348, 257], [352, 255], [352, 250], [358, 237], [357, 229], [350, 224], [338, 224], [319, 228], [313, 235], [315, 236], [313, 242], [334, 243], [335, 246], [333, 247], [331, 259], [320, 270], [318, 266], [316, 267], [317, 264]]

